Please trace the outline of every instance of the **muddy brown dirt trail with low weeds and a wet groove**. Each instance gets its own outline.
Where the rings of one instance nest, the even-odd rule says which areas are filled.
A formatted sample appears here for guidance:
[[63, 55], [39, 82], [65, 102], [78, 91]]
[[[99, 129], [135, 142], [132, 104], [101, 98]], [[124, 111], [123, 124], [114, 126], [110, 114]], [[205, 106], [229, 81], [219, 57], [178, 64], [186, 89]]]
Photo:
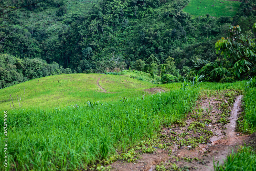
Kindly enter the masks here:
[[248, 137], [235, 132], [241, 98], [233, 90], [205, 93], [186, 119], [138, 143], [134, 153], [120, 153], [127, 155], [128, 161], [136, 160], [116, 161], [112, 170], [214, 170], [213, 158], [216, 164], [222, 163]]

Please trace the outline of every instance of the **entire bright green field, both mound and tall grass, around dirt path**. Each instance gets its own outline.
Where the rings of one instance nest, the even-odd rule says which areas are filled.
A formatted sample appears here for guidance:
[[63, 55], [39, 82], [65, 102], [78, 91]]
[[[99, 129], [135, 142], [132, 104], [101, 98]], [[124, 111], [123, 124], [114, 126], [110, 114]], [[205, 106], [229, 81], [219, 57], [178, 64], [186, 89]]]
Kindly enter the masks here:
[[[201, 94], [211, 97], [215, 90], [244, 93], [242, 129], [255, 132], [256, 89], [244, 91], [244, 84], [245, 81], [203, 82], [200, 88], [180, 89], [181, 83], [157, 85], [143, 81], [141, 84], [140, 80], [118, 75], [63, 74], [1, 89], [0, 117], [4, 118], [4, 110], [8, 111], [9, 165], [7, 169], [3, 165], [0, 168], [85, 170], [88, 166], [95, 168], [93, 164], [104, 163], [104, 159], [111, 162], [117, 152], [130, 159], [132, 152], [127, 150], [131, 146], [156, 137], [162, 127], [184, 119], [193, 111]], [[161, 87], [166, 93], [152, 95], [144, 91], [153, 87]], [[23, 109], [13, 111], [8, 107], [8, 94], [13, 94], [17, 106], [18, 88], [25, 88], [26, 98]], [[143, 94], [146, 94], [144, 99]], [[119, 101], [119, 96], [129, 101]], [[100, 103], [87, 105], [88, 100]], [[4, 121], [0, 120], [2, 130], [3, 125]], [[1, 145], [0, 158], [4, 155]]]

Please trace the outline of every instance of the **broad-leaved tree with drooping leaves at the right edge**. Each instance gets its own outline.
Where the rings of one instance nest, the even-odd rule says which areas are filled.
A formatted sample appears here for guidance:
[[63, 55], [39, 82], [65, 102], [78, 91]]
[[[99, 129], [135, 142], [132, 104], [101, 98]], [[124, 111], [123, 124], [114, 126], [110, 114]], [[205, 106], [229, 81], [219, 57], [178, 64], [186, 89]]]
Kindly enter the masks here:
[[[255, 26], [256, 23], [253, 25], [254, 30]], [[240, 32], [239, 25], [229, 26], [228, 37], [222, 37], [215, 43], [217, 54], [221, 51], [221, 54], [224, 53], [225, 58], [227, 58], [227, 55], [231, 57], [231, 64], [234, 66], [238, 77], [242, 72], [250, 71], [250, 66], [253, 64], [250, 58], [255, 59], [256, 57], [253, 51], [249, 49], [254, 40], [250, 39], [248, 35], [240, 34]]]

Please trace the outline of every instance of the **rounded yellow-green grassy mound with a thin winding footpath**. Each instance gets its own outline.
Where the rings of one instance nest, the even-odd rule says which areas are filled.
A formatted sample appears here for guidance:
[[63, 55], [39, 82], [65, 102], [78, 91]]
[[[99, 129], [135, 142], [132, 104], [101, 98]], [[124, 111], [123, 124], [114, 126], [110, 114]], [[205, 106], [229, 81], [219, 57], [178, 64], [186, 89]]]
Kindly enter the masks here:
[[[101, 78], [100, 78], [101, 77]], [[99, 84], [107, 92], [102, 90]], [[14, 105], [17, 106], [17, 95], [20, 98], [20, 90], [25, 100], [23, 107], [56, 107], [65, 105], [82, 105], [88, 100], [101, 103], [118, 100], [121, 97], [142, 97], [144, 89], [156, 86], [155, 84], [140, 80], [114, 75], [104, 74], [66, 74], [48, 76], [30, 80], [11, 87], [0, 89], [0, 109], [10, 109], [9, 94], [12, 94]], [[111, 93], [112, 92], [112, 93]], [[23, 99], [22, 95], [22, 99]]]

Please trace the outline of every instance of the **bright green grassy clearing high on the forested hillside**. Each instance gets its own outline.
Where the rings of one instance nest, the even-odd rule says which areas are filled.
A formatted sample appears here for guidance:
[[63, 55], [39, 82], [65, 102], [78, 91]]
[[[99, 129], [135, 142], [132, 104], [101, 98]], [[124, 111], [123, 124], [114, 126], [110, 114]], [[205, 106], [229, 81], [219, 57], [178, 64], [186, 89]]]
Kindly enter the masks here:
[[206, 14], [210, 14], [212, 17], [233, 17], [238, 11], [240, 4], [241, 2], [238, 1], [191, 0], [190, 3], [183, 8], [183, 11], [194, 17], [206, 17]]

